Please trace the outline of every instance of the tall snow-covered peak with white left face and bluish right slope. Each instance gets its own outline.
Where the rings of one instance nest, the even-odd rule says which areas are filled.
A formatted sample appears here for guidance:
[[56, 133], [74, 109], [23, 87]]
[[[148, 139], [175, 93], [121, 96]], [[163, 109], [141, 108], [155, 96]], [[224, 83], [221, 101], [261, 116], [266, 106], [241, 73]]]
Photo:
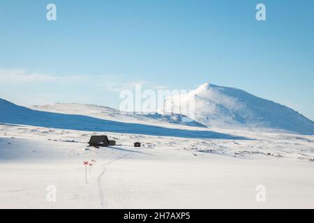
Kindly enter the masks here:
[[190, 115], [186, 104], [194, 100], [193, 119], [217, 128], [251, 128], [283, 130], [314, 134], [310, 119], [271, 100], [258, 98], [240, 89], [202, 84], [185, 95], [172, 95], [165, 100], [162, 111], [179, 111]]

